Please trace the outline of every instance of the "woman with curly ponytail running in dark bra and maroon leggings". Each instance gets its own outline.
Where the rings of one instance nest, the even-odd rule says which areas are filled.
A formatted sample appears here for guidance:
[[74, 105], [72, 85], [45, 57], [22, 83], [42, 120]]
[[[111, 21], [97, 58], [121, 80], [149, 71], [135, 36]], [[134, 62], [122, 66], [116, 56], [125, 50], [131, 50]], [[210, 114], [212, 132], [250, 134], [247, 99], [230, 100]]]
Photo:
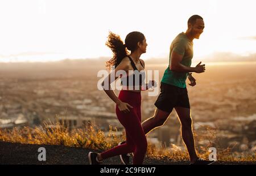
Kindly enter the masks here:
[[[100, 164], [102, 160], [120, 154], [134, 153], [133, 164], [142, 164], [147, 151], [147, 139], [141, 126], [141, 91], [155, 87], [155, 81], [144, 84], [144, 61], [141, 54], [146, 53], [146, 38], [141, 32], [131, 32], [125, 38], [125, 44], [118, 35], [110, 32], [106, 45], [113, 51], [113, 58], [106, 67], [115, 66], [102, 82], [106, 94], [115, 102], [115, 112], [119, 122], [125, 127], [126, 142], [102, 153], [89, 152], [90, 164]], [[130, 54], [127, 49], [130, 50]], [[120, 74], [122, 90], [117, 97], [111, 89], [112, 74], [117, 79]]]

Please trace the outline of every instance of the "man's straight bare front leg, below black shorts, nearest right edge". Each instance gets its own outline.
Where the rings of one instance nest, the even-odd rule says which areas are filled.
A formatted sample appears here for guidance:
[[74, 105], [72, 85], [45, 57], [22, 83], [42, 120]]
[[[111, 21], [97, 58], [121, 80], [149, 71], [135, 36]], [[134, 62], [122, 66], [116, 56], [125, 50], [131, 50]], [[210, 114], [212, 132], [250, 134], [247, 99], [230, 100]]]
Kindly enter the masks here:
[[189, 157], [191, 162], [197, 160], [197, 154], [195, 149], [195, 141], [192, 131], [192, 119], [190, 116], [189, 108], [175, 107], [177, 115], [181, 123], [181, 135], [185, 145], [187, 146]]

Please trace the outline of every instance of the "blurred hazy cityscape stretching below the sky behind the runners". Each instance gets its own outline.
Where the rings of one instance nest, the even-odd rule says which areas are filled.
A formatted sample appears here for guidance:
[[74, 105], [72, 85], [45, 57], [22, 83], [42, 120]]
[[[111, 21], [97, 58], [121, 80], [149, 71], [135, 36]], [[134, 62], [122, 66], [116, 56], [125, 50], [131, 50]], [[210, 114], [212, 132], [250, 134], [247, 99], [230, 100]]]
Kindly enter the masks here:
[[[166, 66], [150, 64], [146, 68], [159, 70], [160, 80]], [[256, 151], [256, 64], [206, 68], [203, 74], [193, 73], [195, 87], [187, 85], [197, 145], [208, 144], [214, 135], [213, 144], [222, 148]], [[70, 130], [94, 124], [106, 134], [109, 126], [122, 134], [114, 102], [97, 89], [97, 72], [102, 69], [104, 62], [100, 61], [0, 63], [0, 128], [58, 121]], [[142, 121], [155, 110], [157, 96], [147, 93], [142, 92]], [[184, 147], [175, 110], [147, 139], [159, 146]]]

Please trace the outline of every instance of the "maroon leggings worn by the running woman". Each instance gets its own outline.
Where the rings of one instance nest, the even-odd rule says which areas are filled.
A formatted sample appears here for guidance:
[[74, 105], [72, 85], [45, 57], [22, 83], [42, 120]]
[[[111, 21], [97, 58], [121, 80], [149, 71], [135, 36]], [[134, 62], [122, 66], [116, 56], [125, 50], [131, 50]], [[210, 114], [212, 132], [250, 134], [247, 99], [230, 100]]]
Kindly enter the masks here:
[[119, 100], [133, 106], [123, 113], [115, 106], [117, 118], [125, 127], [126, 143], [101, 153], [103, 159], [119, 154], [134, 153], [133, 164], [142, 164], [147, 152], [147, 139], [141, 126], [141, 92], [120, 91]]

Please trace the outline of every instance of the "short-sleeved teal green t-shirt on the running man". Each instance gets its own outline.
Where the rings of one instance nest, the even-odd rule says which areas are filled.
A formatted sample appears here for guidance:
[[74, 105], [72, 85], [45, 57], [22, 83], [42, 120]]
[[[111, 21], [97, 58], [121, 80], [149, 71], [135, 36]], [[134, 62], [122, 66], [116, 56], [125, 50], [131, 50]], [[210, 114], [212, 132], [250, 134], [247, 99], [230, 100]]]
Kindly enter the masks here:
[[183, 55], [181, 64], [187, 67], [191, 66], [191, 60], [193, 58], [193, 42], [185, 35], [184, 32], [181, 32], [174, 38], [170, 46], [170, 55], [169, 55], [169, 65], [164, 71], [162, 82], [166, 84], [175, 85], [180, 88], [186, 87], [186, 79], [188, 76], [187, 72], [175, 72], [170, 70], [171, 64], [171, 54], [172, 51], [175, 51], [177, 54]]

